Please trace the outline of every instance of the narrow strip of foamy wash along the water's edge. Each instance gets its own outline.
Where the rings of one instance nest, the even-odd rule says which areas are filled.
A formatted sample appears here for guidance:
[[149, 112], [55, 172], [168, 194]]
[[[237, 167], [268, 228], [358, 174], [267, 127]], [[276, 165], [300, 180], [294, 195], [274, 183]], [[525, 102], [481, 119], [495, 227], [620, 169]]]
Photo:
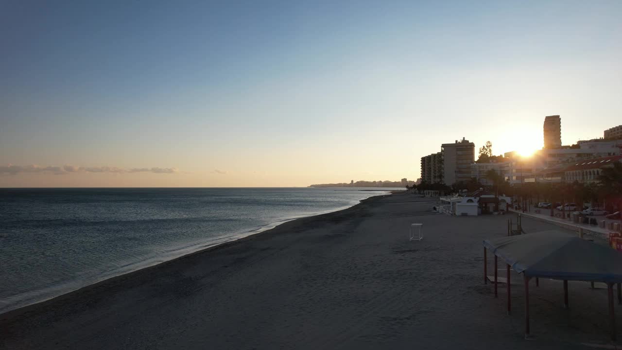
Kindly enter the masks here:
[[[379, 190], [369, 190], [369, 191], [379, 191]], [[392, 196], [392, 194], [396, 193], [396, 191], [387, 191], [389, 192], [388, 194], [379, 194], [377, 196], [369, 196], [367, 198], [361, 199], [360, 201], [358, 201], [358, 203], [353, 204], [352, 206], [349, 207], [344, 207], [342, 209], [337, 209], [337, 210], [333, 210], [333, 211], [329, 211], [329, 212], [324, 212], [322, 214], [312, 214], [312, 215], [307, 215], [307, 216], [302, 216], [302, 217], [297, 217], [294, 219], [285, 219], [284, 221], [282, 221], [280, 224], [276, 224], [272, 227], [270, 227], [272, 224], [268, 224], [265, 226], [265, 229], [260, 228], [258, 230], [256, 230], [256, 232], [254, 232], [253, 230], [247, 232], [247, 235], [241, 235], [241, 237], [233, 239], [233, 240], [226, 240], [225, 242], [221, 242], [221, 243], [217, 243], [217, 244], [213, 244], [210, 245], [208, 247], [204, 247], [204, 248], [200, 248], [198, 250], [195, 250], [193, 252], [188, 252], [188, 253], [183, 253], [182, 255], [179, 255], [178, 257], [174, 257], [174, 258], [170, 258], [169, 260], [164, 260], [161, 262], [156, 262], [154, 264], [151, 265], [146, 265], [144, 267], [139, 267], [136, 268], [135, 270], [130, 270], [128, 272], [123, 272], [120, 273], [119, 275], [114, 275], [111, 277], [106, 277], [103, 278], [102, 280], [99, 281], [95, 281], [94, 283], [90, 283], [88, 285], [85, 286], [81, 286], [80, 288], [74, 289], [74, 290], [70, 290], [67, 291], [65, 293], [61, 293], [59, 295], [55, 295], [52, 296], [50, 298], [46, 298], [44, 300], [40, 300], [40, 301], [35, 301], [34, 303], [30, 303], [24, 306], [19, 306], [18, 308], [14, 308], [11, 310], [7, 310], [4, 311], [2, 313], [0, 313], [0, 321], [4, 320], [4, 319], [10, 319], [14, 316], [17, 315], [21, 315], [22, 313], [26, 313], [32, 309], [38, 308], [38, 307], [43, 307], [44, 305], [47, 305], [48, 303], [53, 303], [55, 301], [61, 301], [61, 300], [65, 300], [67, 298], [72, 298], [72, 296], [74, 295], [78, 295], [79, 293], [82, 292], [87, 292], [89, 290], [91, 290], [92, 288], [98, 288], [101, 286], [105, 286], [108, 285], [108, 283], [114, 283], [116, 281], [121, 281], [121, 280], [125, 280], [127, 278], [131, 278], [131, 275], [134, 274], [138, 274], [141, 272], [146, 272], [147, 270], [153, 269], [153, 268], [157, 268], [157, 267], [161, 267], [164, 265], [167, 265], [169, 263], [174, 263], [177, 262], [178, 260], [182, 260], [183, 258], [188, 258], [188, 257], [193, 257], [194, 255], [198, 255], [201, 253], [207, 253], [207, 252], [211, 252], [213, 250], [218, 250], [220, 248], [225, 248], [225, 247], [230, 247], [231, 245], [234, 244], [240, 244], [242, 242], [246, 242], [247, 240], [251, 240], [256, 238], [258, 235], [261, 234], [269, 234], [271, 231], [277, 230], [277, 229], [284, 229], [284, 225], [287, 224], [298, 224], [299, 221], [301, 220], [318, 220], [318, 219], [322, 219], [322, 217], [324, 215], [332, 215], [332, 214], [344, 214], [346, 210], [350, 210], [353, 209], [357, 206], [360, 206], [363, 203], [366, 203], [368, 201], [370, 201], [371, 199], [374, 198], [380, 198], [380, 197], [387, 197], [387, 196]], [[279, 222], [279, 221], [277, 221]]]

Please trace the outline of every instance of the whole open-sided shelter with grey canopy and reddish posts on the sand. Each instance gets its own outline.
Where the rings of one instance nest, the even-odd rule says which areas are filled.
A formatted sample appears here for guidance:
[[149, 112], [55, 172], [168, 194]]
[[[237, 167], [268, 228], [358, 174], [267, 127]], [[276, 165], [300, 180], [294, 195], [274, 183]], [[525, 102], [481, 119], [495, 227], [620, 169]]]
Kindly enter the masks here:
[[486, 252], [494, 255], [494, 296], [497, 297], [498, 258], [506, 263], [508, 315], [511, 312], [510, 270], [522, 273], [525, 285], [525, 336], [529, 336], [529, 280], [551, 278], [564, 281], [564, 305], [567, 308], [568, 281], [599, 281], [607, 285], [611, 340], [616, 340], [613, 285], [618, 284], [618, 303], [622, 303], [622, 254], [559, 230], [527, 235], [486, 239], [484, 246], [484, 283], [488, 282]]

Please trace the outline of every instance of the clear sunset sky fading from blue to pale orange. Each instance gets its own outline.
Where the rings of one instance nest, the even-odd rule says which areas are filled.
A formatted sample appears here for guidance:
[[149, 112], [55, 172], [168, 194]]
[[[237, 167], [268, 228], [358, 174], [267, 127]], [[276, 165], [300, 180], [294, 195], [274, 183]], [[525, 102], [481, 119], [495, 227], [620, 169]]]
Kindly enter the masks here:
[[622, 1], [2, 1], [0, 187], [420, 177], [622, 124]]

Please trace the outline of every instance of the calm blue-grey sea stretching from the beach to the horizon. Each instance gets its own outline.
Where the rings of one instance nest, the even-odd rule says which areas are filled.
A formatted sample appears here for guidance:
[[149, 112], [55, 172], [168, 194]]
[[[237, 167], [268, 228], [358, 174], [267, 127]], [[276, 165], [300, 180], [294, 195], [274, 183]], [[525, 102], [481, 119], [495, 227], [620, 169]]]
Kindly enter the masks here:
[[0, 189], [0, 313], [387, 189]]

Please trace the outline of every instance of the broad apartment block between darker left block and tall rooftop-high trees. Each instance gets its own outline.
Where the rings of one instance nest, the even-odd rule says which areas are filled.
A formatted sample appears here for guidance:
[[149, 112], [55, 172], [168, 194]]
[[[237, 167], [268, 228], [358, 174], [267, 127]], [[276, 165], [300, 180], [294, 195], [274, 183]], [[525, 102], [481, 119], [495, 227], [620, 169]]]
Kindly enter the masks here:
[[471, 164], [475, 163], [475, 143], [462, 138], [455, 143], [441, 145], [443, 156], [443, 180], [445, 184], [468, 181], [471, 178]]

